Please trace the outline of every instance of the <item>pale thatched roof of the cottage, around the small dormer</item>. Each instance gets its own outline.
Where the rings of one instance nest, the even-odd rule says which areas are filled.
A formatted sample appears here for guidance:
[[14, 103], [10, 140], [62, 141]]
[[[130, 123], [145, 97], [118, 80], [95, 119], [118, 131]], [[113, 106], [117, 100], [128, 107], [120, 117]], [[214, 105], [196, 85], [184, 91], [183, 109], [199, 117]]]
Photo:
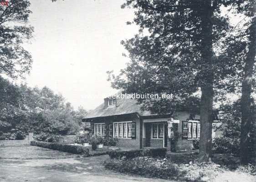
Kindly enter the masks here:
[[105, 116], [115, 116], [123, 114], [138, 113], [140, 116], [151, 116], [150, 111], [142, 111], [140, 104], [138, 104], [136, 99], [130, 98], [117, 98], [116, 106], [105, 107], [102, 103], [97, 106], [94, 110], [89, 111], [84, 119], [94, 118], [94, 117], [105, 117]]

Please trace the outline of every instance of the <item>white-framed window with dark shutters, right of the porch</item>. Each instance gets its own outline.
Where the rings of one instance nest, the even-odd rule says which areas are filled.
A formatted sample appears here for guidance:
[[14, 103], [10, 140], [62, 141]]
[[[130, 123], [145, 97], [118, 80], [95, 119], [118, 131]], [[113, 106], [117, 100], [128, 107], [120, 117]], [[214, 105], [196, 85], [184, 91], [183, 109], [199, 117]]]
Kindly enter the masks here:
[[182, 137], [183, 139], [199, 139], [200, 121], [182, 121]]

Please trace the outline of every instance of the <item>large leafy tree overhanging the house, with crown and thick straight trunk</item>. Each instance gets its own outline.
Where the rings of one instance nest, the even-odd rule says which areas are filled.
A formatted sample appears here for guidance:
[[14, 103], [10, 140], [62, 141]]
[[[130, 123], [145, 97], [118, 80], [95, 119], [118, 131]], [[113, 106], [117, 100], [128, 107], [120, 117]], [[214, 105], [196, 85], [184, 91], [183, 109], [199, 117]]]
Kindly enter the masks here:
[[231, 29], [220, 8], [231, 4], [239, 7], [241, 3], [127, 0], [123, 5], [135, 9], [133, 23], [140, 29], [134, 38], [122, 41], [131, 62], [114, 77], [112, 86], [140, 93], [173, 93], [174, 100], [153, 101], [164, 103], [164, 111], [200, 91], [200, 159], [204, 161], [211, 157], [213, 98], [218, 88], [227, 85], [225, 76], [235, 76], [240, 64], [225, 59], [221, 54], [225, 50], [219, 50]]

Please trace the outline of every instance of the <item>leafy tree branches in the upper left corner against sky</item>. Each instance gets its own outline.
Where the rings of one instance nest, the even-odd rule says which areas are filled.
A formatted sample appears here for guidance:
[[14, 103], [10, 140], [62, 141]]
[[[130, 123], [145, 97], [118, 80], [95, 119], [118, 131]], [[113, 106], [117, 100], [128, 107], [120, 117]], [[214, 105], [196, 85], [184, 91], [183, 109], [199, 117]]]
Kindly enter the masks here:
[[23, 43], [31, 39], [33, 27], [28, 25], [29, 1], [8, 2], [0, 5], [0, 74], [16, 78], [31, 69], [32, 58]]

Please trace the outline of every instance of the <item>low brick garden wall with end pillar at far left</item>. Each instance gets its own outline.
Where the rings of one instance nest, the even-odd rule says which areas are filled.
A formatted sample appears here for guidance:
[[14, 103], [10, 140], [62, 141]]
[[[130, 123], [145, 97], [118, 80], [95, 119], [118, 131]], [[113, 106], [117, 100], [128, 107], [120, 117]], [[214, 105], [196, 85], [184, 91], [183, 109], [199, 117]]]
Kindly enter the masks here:
[[33, 133], [29, 133], [24, 140], [0, 140], [0, 147], [29, 146], [31, 141], [33, 141]]

